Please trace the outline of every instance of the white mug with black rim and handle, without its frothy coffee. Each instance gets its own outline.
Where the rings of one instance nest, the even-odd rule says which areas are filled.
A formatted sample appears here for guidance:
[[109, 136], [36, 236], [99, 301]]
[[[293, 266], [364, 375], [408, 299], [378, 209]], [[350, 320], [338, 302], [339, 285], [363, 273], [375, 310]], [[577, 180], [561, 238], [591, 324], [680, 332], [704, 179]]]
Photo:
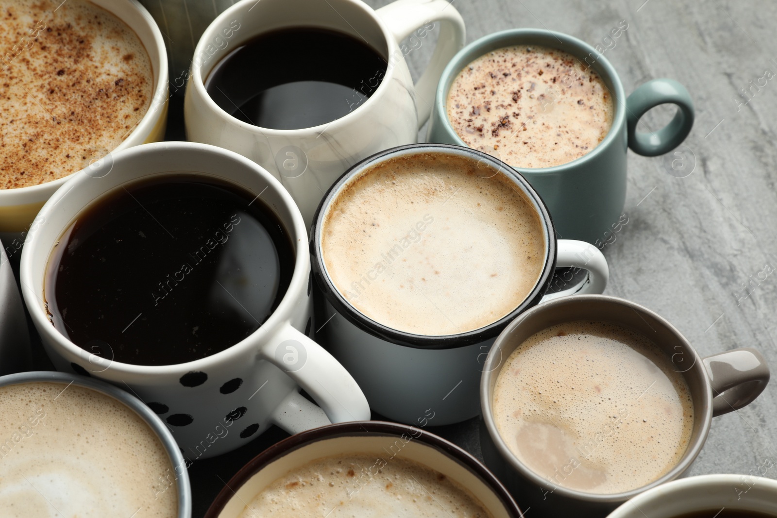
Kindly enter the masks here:
[[[455, 335], [417, 335], [392, 329], [368, 318], [340, 293], [322, 259], [323, 221], [333, 202], [361, 172], [400, 156], [440, 153], [472, 160], [507, 177], [524, 193], [536, 210], [545, 238], [545, 264], [531, 293], [509, 314], [479, 329]], [[601, 294], [608, 280], [605, 256], [586, 242], [559, 239], [545, 203], [535, 189], [497, 158], [463, 146], [410, 144], [382, 151], [364, 159], [343, 174], [329, 189], [316, 211], [310, 250], [315, 280], [325, 301], [327, 348], [354, 376], [371, 408], [389, 419], [415, 423], [428, 408], [434, 408], [435, 425], [461, 422], [480, 413], [478, 388], [483, 363], [491, 344], [502, 329], [528, 308], [565, 294]], [[582, 283], [545, 294], [556, 267], [587, 270]]]

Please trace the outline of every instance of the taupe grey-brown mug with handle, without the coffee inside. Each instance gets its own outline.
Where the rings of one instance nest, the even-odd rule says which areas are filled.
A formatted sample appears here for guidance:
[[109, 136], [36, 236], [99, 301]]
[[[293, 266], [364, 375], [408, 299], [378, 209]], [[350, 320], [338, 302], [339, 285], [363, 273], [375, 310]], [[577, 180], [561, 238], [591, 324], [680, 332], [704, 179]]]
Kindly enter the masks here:
[[[542, 478], [519, 461], [497, 430], [492, 408], [493, 390], [504, 360], [536, 332], [580, 320], [615, 323], [648, 337], [664, 350], [672, 368], [688, 383], [695, 420], [685, 454], [665, 475], [641, 488], [608, 495], [564, 488], [552, 478]], [[486, 358], [480, 382], [483, 459], [524, 509], [531, 507], [545, 516], [605, 516], [626, 500], [681, 476], [704, 446], [713, 417], [752, 402], [768, 380], [768, 367], [755, 349], [733, 349], [701, 358], [665, 318], [639, 304], [604, 295], [562, 297], [518, 316], [499, 335]]]

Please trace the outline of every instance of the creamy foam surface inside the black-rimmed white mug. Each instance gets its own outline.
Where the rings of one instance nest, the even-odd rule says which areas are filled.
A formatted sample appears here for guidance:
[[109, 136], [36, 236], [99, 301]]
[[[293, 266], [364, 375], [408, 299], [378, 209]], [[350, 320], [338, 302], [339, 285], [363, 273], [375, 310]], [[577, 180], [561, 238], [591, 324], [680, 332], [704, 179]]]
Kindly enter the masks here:
[[391, 158], [330, 205], [326, 270], [354, 308], [392, 329], [479, 329], [517, 308], [545, 265], [545, 230], [524, 196], [472, 158]]

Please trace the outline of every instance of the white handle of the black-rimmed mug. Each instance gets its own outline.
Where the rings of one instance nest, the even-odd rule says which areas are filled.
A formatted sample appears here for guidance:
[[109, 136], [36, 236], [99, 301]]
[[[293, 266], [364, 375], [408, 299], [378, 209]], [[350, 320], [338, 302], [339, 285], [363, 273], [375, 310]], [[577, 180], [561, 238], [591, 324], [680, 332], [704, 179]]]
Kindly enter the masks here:
[[[573, 287], [545, 294], [541, 303], [566, 295], [601, 294], [605, 291], [610, 278], [610, 269], [607, 266], [607, 259], [598, 248], [584, 241], [559, 239], [556, 250], [556, 268], [584, 269], [587, 271], [587, 276], [582, 283], [577, 283]], [[562, 281], [566, 283], [566, 280], [562, 279]]]

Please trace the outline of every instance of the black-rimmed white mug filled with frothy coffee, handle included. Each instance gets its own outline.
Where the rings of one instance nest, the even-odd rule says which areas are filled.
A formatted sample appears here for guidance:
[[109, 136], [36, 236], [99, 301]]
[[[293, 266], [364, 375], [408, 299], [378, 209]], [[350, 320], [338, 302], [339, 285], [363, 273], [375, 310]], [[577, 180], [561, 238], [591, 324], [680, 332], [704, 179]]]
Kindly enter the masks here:
[[[435, 425], [478, 415], [483, 361], [508, 322], [540, 301], [601, 293], [608, 279], [596, 247], [556, 240], [518, 172], [446, 144], [354, 165], [319, 205], [311, 252], [329, 350], [372, 410], [399, 422], [427, 408]], [[545, 295], [557, 266], [587, 276]]]

